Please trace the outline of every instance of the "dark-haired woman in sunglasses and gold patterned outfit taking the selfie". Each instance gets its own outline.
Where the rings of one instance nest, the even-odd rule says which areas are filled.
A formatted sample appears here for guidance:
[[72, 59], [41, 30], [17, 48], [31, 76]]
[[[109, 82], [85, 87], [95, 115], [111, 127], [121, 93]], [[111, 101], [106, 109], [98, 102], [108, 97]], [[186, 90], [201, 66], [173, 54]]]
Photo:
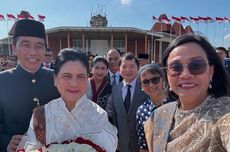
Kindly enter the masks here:
[[230, 151], [230, 80], [215, 49], [201, 36], [184, 35], [168, 46], [163, 66], [178, 102], [146, 122], [150, 151]]

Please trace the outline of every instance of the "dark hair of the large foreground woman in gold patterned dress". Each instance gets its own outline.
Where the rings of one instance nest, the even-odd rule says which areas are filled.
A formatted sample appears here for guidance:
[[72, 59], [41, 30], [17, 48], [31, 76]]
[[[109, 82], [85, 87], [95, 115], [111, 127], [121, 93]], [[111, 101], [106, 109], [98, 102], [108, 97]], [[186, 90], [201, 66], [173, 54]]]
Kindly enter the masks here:
[[[214, 47], [202, 36], [187, 34], [172, 41], [164, 52], [162, 61], [163, 66], [167, 66], [167, 60], [172, 50], [185, 43], [196, 43], [201, 46], [207, 55], [209, 65], [214, 66], [214, 74], [211, 82], [212, 88], [208, 89], [209, 94], [216, 97], [230, 95], [229, 75], [227, 74], [227, 71], [225, 70], [222, 61], [219, 59]], [[170, 94], [172, 97], [178, 98], [177, 95], [171, 91]]]

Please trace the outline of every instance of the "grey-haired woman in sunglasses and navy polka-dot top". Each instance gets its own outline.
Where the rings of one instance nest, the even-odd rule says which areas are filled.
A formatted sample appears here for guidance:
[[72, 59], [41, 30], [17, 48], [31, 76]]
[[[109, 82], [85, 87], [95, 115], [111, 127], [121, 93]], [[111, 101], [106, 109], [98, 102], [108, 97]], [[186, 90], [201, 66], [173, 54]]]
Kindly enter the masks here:
[[149, 98], [138, 107], [136, 114], [138, 146], [140, 152], [148, 152], [144, 124], [156, 108], [172, 100], [168, 98], [164, 71], [158, 64], [142, 66], [139, 70], [139, 78], [142, 90]]

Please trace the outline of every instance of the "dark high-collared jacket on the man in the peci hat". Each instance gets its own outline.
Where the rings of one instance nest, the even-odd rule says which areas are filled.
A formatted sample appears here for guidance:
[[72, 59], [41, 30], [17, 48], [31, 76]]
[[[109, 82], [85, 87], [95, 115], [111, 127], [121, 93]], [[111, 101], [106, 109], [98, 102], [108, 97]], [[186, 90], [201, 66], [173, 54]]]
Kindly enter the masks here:
[[24, 134], [33, 109], [58, 98], [53, 71], [40, 67], [35, 74], [20, 65], [0, 73], [0, 151], [5, 152], [13, 135]]

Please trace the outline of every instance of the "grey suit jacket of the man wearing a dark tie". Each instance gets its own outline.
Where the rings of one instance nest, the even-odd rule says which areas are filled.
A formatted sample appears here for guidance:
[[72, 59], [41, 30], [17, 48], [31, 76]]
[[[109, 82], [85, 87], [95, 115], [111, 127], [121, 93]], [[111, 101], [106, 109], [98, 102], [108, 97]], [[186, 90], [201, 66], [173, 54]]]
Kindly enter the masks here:
[[134, 95], [127, 113], [122, 98], [122, 86], [121, 82], [112, 88], [112, 122], [118, 129], [118, 146], [120, 152], [138, 152], [136, 111], [147, 100], [147, 95], [141, 91], [140, 81], [137, 79]]

